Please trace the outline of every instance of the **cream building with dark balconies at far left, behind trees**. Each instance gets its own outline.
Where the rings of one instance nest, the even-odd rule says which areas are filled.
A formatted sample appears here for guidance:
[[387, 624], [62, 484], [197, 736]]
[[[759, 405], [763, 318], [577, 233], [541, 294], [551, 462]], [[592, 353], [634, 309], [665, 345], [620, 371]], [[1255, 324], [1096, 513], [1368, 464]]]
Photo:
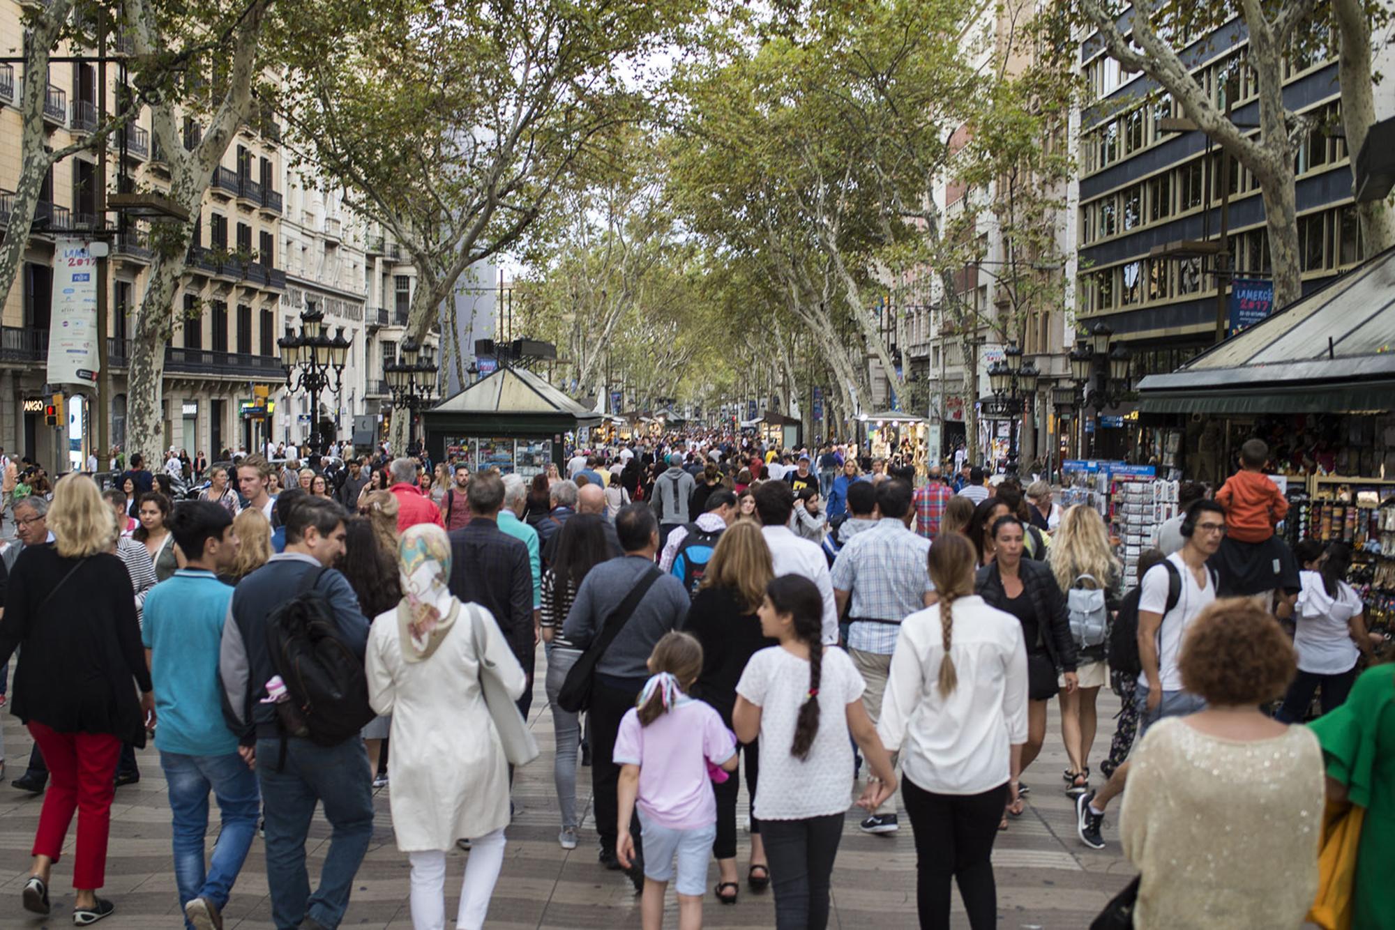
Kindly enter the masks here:
[[[24, 43], [22, 3], [0, 0], [0, 46]], [[24, 81], [46, 82], [45, 130], [54, 148], [95, 128], [98, 66], [95, 38], [61, 46], [59, 57], [93, 61], [53, 63], [46, 75], [27, 75], [22, 66], [0, 66], [0, 229], [8, 219], [10, 198], [20, 173], [21, 119], [14, 109]], [[130, 52], [120, 36], [113, 54]], [[120, 92], [119, 68], [107, 67], [109, 106]], [[169, 167], [151, 137], [151, 117], [142, 112], [107, 149], [105, 176], [109, 192], [163, 190]], [[187, 119], [184, 145], [191, 148], [202, 128]], [[188, 266], [176, 297], [180, 322], [165, 347], [163, 427], [166, 446], [194, 455], [216, 455], [225, 448], [254, 448], [268, 435], [265, 421], [246, 416], [255, 407], [254, 386], [283, 383], [276, 337], [280, 301], [286, 291], [279, 259], [282, 194], [276, 190], [283, 153], [280, 134], [269, 117], [240, 127], [218, 169], [195, 220]], [[29, 455], [64, 470], [60, 456], [81, 462], [96, 443], [95, 424], [107, 420], [110, 442], [126, 441], [126, 369], [130, 358], [131, 314], [145, 290], [152, 252], [144, 229], [128, 223], [117, 234], [116, 215], [96, 215], [96, 185], [102, 171], [95, 153], [80, 153], [53, 166], [45, 178], [33, 230], [14, 287], [0, 315], [0, 443], [10, 453]], [[8, 230], [6, 230], [8, 231]], [[73, 434], [43, 425], [42, 388], [46, 382], [53, 262], [56, 240], [75, 236], [110, 244], [107, 261], [107, 367], [112, 397], [105, 410], [78, 389], [70, 396], [77, 411]], [[70, 390], [74, 390], [70, 388]]]

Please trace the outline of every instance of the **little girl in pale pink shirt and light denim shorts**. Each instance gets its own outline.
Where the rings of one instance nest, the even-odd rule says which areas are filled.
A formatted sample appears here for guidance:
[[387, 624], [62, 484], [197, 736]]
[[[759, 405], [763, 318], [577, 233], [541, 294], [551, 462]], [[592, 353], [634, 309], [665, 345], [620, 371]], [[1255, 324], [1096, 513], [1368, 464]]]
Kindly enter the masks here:
[[[709, 765], [737, 767], [737, 740], [721, 717], [686, 692], [702, 672], [702, 646], [688, 633], [668, 633], [649, 657], [653, 672], [638, 707], [625, 714], [615, 738], [621, 765], [615, 855], [626, 869], [644, 870], [640, 902], [644, 930], [664, 924], [664, 891], [674, 878], [679, 930], [702, 927], [707, 859], [717, 835], [717, 798]], [[642, 846], [631, 835], [639, 806]]]

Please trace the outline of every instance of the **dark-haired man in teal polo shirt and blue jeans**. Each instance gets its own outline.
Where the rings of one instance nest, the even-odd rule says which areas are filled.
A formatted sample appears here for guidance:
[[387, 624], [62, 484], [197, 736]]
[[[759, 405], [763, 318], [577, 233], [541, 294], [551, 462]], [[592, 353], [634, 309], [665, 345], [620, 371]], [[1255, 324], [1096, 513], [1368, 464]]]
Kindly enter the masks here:
[[[148, 650], [159, 729], [155, 747], [173, 813], [174, 885], [198, 930], [222, 926], [233, 883], [257, 838], [261, 798], [250, 760], [223, 722], [218, 651], [233, 588], [218, 580], [237, 558], [233, 517], [211, 501], [174, 506], [170, 533], [188, 563], [145, 598], [141, 639]], [[222, 830], [205, 864], [208, 793]]]

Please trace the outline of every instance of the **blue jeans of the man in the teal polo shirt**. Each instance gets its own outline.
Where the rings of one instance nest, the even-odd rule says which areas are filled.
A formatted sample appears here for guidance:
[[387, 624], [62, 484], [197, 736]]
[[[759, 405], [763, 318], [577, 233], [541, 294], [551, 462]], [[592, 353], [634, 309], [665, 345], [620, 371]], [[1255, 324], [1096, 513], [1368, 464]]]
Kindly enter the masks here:
[[[222, 910], [257, 837], [261, 792], [257, 775], [237, 753], [184, 756], [160, 753], [160, 768], [170, 793], [174, 827], [174, 884], [179, 906], [208, 898]], [[208, 832], [208, 792], [218, 800], [223, 827], [213, 855], [204, 867], [204, 835]], [[188, 920], [186, 927], [191, 927]]]

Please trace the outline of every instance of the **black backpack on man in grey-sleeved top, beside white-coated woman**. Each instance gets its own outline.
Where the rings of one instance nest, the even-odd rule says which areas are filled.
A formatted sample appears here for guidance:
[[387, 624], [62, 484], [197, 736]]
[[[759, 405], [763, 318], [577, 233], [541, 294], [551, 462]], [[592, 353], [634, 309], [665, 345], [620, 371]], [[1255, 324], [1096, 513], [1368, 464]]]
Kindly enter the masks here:
[[276, 704], [283, 757], [287, 736], [338, 746], [374, 718], [363, 658], [340, 639], [335, 608], [318, 590], [328, 570], [307, 572], [296, 597], [266, 618], [271, 664], [290, 694]]

